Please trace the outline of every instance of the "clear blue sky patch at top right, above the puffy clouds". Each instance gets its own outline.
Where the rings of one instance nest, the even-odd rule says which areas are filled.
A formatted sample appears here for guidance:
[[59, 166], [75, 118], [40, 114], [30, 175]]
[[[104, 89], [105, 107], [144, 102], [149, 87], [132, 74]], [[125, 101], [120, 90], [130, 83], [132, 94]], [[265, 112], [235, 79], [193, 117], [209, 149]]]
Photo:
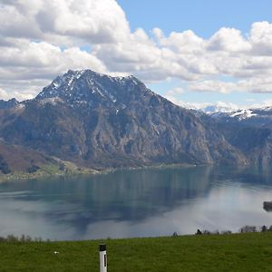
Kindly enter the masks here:
[[209, 38], [223, 26], [244, 34], [254, 22], [271, 21], [271, 0], [117, 0], [131, 24], [146, 32], [160, 27], [166, 34], [193, 30]]

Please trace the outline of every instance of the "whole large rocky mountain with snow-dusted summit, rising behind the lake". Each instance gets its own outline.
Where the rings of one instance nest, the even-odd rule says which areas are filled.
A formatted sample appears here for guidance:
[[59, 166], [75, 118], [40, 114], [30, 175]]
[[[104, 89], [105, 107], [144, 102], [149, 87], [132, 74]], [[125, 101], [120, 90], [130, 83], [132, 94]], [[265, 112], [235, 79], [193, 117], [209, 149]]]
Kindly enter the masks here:
[[0, 111], [0, 137], [88, 168], [246, 163], [192, 111], [134, 76], [68, 71], [30, 101]]

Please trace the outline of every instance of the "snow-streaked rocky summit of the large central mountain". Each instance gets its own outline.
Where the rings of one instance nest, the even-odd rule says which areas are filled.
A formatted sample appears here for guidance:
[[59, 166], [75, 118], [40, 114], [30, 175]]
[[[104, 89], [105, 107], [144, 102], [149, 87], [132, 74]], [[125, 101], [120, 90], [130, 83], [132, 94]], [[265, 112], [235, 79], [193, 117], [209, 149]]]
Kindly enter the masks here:
[[[110, 76], [92, 70], [69, 70], [55, 78], [35, 100], [44, 101], [43, 104], [62, 101], [73, 108], [85, 107], [86, 110], [100, 105], [117, 111], [146, 95], [151, 97], [156, 94], [133, 75]], [[59, 100], [52, 101], [53, 98]]]

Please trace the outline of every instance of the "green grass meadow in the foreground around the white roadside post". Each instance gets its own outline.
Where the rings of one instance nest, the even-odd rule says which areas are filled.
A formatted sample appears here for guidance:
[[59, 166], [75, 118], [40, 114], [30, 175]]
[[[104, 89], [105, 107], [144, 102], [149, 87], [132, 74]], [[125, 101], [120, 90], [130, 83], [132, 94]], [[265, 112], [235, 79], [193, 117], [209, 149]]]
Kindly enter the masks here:
[[[99, 271], [100, 242], [2, 242], [0, 271]], [[108, 239], [106, 244], [109, 272], [272, 271], [271, 232]]]

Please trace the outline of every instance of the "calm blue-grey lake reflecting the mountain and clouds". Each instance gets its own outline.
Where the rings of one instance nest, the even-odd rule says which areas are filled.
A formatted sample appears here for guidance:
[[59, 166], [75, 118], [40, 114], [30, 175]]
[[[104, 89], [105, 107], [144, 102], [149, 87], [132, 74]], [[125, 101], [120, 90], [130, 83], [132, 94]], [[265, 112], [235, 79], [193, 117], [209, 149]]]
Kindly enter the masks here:
[[129, 238], [272, 225], [271, 170], [197, 167], [0, 183], [0, 236]]

